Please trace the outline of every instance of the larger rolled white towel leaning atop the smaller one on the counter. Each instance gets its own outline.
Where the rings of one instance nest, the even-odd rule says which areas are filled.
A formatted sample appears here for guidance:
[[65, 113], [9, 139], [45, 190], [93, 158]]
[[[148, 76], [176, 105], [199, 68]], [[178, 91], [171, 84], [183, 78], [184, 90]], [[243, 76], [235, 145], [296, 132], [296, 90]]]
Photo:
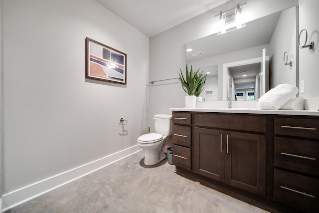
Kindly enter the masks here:
[[298, 88], [292, 84], [279, 84], [258, 99], [260, 109], [279, 110], [298, 93]]

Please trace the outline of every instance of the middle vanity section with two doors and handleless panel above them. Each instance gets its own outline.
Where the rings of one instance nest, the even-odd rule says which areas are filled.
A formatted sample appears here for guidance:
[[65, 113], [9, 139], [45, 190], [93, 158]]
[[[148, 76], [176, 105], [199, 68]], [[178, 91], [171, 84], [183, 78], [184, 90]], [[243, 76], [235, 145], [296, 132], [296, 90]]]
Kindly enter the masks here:
[[[193, 172], [265, 195], [266, 118], [205, 113], [194, 116]], [[256, 128], [260, 124], [265, 126]], [[229, 127], [240, 131], [229, 131]], [[260, 132], [250, 133], [252, 130]]]

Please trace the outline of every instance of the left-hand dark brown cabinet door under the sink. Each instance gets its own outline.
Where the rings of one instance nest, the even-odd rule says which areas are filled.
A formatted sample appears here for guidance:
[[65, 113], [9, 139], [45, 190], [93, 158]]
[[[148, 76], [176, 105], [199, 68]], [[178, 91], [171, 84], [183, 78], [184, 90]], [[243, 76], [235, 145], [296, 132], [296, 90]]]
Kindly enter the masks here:
[[224, 131], [195, 128], [192, 165], [194, 172], [224, 182]]

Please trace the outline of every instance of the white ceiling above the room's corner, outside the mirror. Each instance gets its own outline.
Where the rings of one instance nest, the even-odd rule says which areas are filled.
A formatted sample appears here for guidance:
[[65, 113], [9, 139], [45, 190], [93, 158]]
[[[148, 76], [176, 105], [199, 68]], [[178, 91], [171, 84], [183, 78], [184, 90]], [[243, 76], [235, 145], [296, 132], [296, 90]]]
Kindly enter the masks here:
[[96, 0], [152, 37], [229, 0]]

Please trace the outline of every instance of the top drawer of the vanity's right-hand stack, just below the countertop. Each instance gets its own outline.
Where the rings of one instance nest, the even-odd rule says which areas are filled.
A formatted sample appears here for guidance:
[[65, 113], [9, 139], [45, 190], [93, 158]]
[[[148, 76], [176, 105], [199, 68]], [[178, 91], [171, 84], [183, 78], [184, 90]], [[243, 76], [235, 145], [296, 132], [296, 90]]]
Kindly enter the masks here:
[[274, 133], [319, 138], [319, 119], [275, 118]]

